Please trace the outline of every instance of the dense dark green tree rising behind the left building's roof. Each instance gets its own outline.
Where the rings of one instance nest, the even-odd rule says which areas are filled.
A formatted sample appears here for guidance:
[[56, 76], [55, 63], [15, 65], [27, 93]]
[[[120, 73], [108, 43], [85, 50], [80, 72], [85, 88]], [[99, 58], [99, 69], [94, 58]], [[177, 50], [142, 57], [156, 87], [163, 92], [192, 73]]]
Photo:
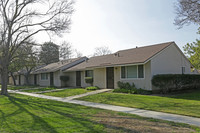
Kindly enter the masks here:
[[45, 42], [39, 54], [41, 63], [46, 65], [59, 61], [59, 46], [53, 42]]

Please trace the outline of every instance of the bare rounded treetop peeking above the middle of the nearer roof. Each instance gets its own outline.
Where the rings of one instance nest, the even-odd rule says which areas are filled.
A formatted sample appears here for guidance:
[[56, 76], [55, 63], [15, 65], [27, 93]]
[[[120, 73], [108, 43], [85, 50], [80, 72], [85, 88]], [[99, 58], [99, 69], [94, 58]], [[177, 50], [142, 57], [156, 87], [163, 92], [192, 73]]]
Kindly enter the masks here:
[[102, 47], [96, 47], [95, 48], [95, 52], [93, 56], [101, 56], [101, 55], [107, 55], [107, 54], [111, 54], [111, 50], [106, 47], [106, 46], [102, 46]]

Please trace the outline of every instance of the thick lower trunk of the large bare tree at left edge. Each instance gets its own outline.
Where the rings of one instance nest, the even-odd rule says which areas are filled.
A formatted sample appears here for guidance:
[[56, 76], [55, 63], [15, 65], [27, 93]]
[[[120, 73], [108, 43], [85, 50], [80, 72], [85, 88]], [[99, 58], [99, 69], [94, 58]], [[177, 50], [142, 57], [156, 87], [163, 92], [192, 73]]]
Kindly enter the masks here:
[[1, 73], [1, 95], [8, 96], [7, 85], [8, 85], [8, 67], [2, 68]]

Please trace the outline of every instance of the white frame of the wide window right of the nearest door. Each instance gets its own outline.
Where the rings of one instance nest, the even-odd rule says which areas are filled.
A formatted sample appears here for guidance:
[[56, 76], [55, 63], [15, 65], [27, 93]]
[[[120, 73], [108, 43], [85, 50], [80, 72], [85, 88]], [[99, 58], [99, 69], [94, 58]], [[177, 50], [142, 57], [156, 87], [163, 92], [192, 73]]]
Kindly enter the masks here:
[[[144, 77], [143, 78], [138, 78], [138, 66], [139, 65], [143, 65], [143, 73], [144, 73]], [[127, 67], [127, 66], [137, 66], [137, 78], [122, 78], [122, 73], [121, 73], [121, 67]], [[127, 76], [127, 70], [126, 71], [126, 76]], [[124, 65], [124, 66], [120, 66], [120, 80], [143, 80], [145, 79], [145, 64], [137, 64], [137, 65]]]

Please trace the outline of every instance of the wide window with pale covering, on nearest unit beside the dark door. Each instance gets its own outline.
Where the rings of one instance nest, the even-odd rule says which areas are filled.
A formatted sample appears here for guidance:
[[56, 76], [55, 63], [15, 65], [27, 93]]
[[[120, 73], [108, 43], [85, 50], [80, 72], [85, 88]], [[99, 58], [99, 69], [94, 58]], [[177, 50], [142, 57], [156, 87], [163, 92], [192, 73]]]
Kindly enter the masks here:
[[121, 78], [144, 78], [144, 65], [122, 66]]

